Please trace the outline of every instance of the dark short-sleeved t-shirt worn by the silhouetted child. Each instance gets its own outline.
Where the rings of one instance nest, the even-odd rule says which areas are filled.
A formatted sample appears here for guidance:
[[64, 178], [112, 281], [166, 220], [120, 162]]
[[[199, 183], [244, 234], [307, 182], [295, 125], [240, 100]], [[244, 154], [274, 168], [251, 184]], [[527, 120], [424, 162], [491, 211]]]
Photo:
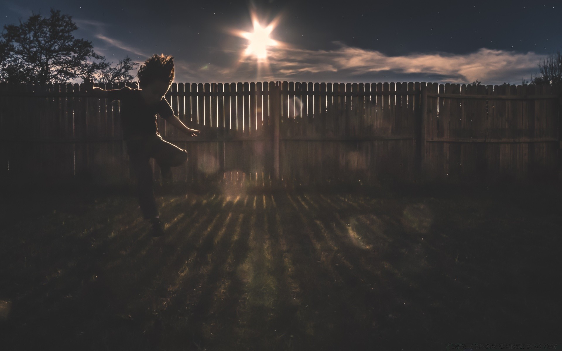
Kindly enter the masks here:
[[125, 86], [122, 89], [107, 90], [107, 98], [110, 101], [120, 101], [121, 129], [123, 129], [124, 140], [160, 135], [156, 115], [164, 119], [174, 115], [174, 110], [164, 98], [153, 105], [145, 103], [140, 95], [140, 89]]

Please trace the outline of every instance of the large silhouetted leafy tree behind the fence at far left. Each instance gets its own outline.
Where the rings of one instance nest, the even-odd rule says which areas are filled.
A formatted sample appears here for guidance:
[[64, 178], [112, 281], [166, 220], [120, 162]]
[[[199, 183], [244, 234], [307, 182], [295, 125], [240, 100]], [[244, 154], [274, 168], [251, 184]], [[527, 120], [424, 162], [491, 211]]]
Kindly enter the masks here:
[[[32, 13], [19, 25], [4, 25], [0, 39], [0, 79], [11, 83], [65, 83], [92, 78], [109, 66], [92, 43], [75, 39], [69, 15], [51, 9], [51, 17]], [[95, 62], [98, 60], [99, 62]]]

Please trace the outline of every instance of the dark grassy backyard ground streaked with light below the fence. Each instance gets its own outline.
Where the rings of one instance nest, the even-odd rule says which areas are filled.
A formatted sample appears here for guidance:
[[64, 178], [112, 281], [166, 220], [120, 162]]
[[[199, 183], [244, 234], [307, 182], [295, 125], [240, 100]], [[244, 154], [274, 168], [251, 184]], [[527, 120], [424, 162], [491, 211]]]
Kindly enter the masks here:
[[0, 349], [560, 343], [559, 185], [156, 193], [5, 189]]

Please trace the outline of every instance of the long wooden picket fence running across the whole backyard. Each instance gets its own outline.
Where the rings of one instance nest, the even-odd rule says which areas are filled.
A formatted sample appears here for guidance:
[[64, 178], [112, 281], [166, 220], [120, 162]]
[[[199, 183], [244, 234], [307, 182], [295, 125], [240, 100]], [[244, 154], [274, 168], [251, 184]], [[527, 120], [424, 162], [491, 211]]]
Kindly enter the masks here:
[[[551, 86], [174, 83], [166, 99], [202, 131], [189, 137], [157, 120], [162, 138], [189, 153], [174, 168], [180, 183], [528, 180], [560, 169]], [[119, 102], [78, 84], [0, 84], [0, 162], [2, 179], [129, 181]]]

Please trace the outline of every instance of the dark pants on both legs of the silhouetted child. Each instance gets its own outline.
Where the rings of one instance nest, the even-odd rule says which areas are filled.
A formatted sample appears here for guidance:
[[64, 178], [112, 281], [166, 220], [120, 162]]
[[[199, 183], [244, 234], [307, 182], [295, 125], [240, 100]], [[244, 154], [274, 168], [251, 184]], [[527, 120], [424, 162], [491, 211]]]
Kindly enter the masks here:
[[154, 158], [162, 174], [169, 174], [170, 167], [182, 165], [187, 161], [188, 153], [162, 140], [157, 134], [140, 140], [126, 140], [126, 144], [130, 166], [138, 181], [140, 210], [146, 219], [156, 217], [159, 213], [154, 198], [154, 180], [149, 160]]

